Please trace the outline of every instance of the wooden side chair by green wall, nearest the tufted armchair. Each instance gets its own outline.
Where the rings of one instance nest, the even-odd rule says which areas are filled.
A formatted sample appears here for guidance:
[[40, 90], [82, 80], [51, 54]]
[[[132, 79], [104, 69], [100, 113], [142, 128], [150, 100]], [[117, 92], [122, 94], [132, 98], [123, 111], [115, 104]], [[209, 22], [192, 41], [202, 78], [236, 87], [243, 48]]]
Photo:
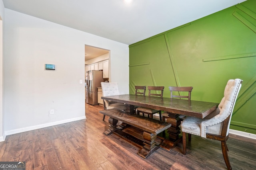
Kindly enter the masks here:
[[[191, 92], [193, 87], [175, 87], [175, 86], [169, 86], [169, 90], [171, 92], [171, 98], [179, 98], [179, 99], [188, 99], [190, 101], [191, 98]], [[174, 93], [177, 93], [174, 95]], [[182, 92], [182, 94], [181, 94]], [[184, 92], [187, 94], [185, 95]], [[169, 114], [167, 112], [162, 113], [162, 120], [165, 121], [165, 119]], [[180, 119], [183, 119], [185, 115], [179, 115]]]

